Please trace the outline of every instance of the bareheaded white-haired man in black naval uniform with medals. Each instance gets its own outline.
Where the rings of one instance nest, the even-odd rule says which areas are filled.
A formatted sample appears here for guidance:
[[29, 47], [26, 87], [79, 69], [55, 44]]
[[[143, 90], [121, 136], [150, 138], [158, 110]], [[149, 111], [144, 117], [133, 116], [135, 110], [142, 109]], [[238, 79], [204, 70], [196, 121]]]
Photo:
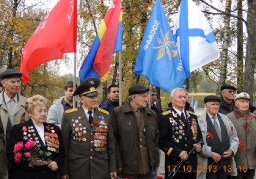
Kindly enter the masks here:
[[[178, 170], [178, 163], [184, 161], [172, 179], [196, 179], [197, 156], [202, 139], [197, 117], [185, 110], [187, 95], [184, 89], [171, 91], [172, 107], [159, 116], [159, 147], [165, 153], [165, 177], [173, 176], [171, 171]], [[189, 152], [195, 148], [190, 154]]]

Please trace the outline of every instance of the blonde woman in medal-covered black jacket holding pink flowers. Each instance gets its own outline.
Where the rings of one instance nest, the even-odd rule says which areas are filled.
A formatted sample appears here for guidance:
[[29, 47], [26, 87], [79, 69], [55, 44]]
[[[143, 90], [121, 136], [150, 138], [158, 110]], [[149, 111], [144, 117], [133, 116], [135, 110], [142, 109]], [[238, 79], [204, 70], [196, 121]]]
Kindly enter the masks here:
[[8, 162], [9, 179], [58, 179], [64, 161], [64, 147], [58, 126], [45, 122], [48, 100], [37, 94], [27, 99], [30, 120], [11, 130]]

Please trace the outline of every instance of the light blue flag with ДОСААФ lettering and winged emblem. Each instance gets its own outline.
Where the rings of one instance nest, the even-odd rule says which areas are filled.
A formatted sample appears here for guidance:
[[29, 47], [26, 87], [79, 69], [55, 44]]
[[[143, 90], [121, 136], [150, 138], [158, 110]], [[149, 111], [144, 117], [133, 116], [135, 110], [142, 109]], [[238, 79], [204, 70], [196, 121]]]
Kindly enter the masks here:
[[134, 73], [170, 92], [181, 88], [186, 75], [160, 0], [156, 0], [140, 45]]

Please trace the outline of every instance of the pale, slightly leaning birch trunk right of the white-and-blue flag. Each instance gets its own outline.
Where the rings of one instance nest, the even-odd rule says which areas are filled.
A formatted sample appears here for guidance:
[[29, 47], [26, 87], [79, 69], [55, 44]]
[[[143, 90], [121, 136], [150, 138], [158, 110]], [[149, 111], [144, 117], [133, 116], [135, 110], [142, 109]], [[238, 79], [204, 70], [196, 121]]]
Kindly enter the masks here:
[[220, 95], [220, 88], [225, 84], [226, 81], [226, 68], [227, 68], [227, 60], [228, 60], [228, 44], [230, 41], [229, 32], [230, 32], [230, 8], [231, 8], [231, 0], [226, 0], [225, 7], [225, 15], [224, 15], [224, 41], [222, 45], [221, 52], [221, 73], [220, 73], [220, 81], [219, 88], [216, 91], [217, 95]]

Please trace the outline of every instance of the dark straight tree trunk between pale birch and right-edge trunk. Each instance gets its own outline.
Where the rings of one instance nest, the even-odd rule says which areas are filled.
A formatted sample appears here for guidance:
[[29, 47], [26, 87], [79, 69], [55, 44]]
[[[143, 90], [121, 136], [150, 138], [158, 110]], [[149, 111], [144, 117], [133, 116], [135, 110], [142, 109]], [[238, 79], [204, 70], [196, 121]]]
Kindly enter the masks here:
[[[239, 18], [243, 18], [243, 1], [237, 1], [237, 16]], [[244, 59], [244, 50], [243, 50], [243, 21], [241, 19], [237, 19], [237, 93], [242, 92], [243, 90], [243, 59]]]

